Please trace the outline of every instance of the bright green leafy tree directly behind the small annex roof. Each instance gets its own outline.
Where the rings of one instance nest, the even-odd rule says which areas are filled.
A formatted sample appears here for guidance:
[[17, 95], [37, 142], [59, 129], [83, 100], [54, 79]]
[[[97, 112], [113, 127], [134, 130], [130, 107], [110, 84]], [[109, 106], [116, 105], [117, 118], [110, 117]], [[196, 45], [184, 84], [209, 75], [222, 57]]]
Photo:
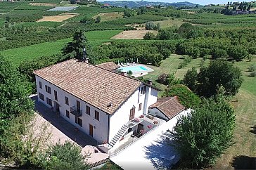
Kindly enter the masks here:
[[200, 98], [193, 91], [182, 84], [169, 86], [165, 90], [164, 96], [178, 96], [181, 105], [187, 108], [197, 107], [201, 102]]

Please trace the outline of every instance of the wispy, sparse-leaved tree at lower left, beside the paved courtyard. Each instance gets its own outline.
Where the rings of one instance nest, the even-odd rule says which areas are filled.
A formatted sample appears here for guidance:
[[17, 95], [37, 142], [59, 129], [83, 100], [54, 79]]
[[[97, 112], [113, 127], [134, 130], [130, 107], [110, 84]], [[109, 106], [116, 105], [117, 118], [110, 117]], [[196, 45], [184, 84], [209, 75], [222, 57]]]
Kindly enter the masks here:
[[4, 163], [15, 163], [22, 169], [37, 169], [41, 167], [39, 159], [41, 152], [49, 145], [51, 130], [49, 123], [41, 123], [39, 115], [19, 115], [10, 126], [1, 133], [1, 157]]

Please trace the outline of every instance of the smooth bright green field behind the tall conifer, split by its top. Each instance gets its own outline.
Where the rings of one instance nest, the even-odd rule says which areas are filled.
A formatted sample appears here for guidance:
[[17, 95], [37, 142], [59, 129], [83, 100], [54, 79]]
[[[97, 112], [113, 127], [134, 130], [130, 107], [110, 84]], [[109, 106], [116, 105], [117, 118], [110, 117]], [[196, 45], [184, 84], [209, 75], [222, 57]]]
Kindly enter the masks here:
[[[118, 34], [122, 30], [110, 30], [110, 31], [93, 31], [86, 32], [85, 35], [91, 46], [97, 46], [105, 41], [108, 41], [110, 37]], [[72, 41], [72, 38], [61, 39], [58, 41], [50, 41], [41, 44], [34, 44], [32, 46], [23, 46], [20, 48], [12, 48], [5, 51], [0, 51], [8, 60], [11, 60], [14, 65], [19, 65], [20, 62], [30, 60], [33, 58], [39, 58], [43, 55], [53, 55], [61, 52], [61, 49], [68, 42]]]

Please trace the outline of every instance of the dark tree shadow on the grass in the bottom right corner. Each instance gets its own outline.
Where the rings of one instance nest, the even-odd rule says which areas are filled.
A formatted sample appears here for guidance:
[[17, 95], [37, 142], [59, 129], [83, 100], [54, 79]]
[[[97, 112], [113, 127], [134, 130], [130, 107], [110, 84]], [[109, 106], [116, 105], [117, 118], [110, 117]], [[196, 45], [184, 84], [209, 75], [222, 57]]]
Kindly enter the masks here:
[[256, 169], [256, 157], [239, 155], [237, 157], [233, 157], [231, 165], [234, 169]]

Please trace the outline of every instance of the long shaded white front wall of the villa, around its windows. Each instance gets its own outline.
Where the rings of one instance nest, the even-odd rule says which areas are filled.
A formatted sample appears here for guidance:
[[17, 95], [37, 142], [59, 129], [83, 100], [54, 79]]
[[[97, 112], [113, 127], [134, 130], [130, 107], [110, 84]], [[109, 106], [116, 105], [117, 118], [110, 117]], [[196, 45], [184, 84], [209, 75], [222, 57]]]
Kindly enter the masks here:
[[[39, 81], [41, 81], [42, 89], [39, 88]], [[61, 117], [63, 117], [68, 122], [70, 122], [71, 124], [76, 126], [78, 129], [80, 129], [81, 131], [87, 134], [89, 134], [89, 124], [91, 124], [92, 126], [96, 127], [95, 129], [93, 129], [94, 139], [98, 140], [99, 143], [103, 142], [103, 140], [108, 140], [108, 115], [105, 112], [98, 110], [96, 107], [89, 105], [88, 103], [85, 103], [83, 100], [80, 100], [75, 96], [72, 96], [70, 93], [63, 91], [62, 89], [59, 89], [57, 86], [50, 84], [48, 81], [45, 81], [40, 77], [36, 76], [36, 83], [37, 83], [37, 96], [41, 103], [44, 103], [44, 105], [46, 105], [47, 107], [51, 107], [46, 103], [46, 97], [50, 98], [53, 101], [56, 101], [54, 100], [54, 90], [56, 90], [58, 93], [58, 101], [56, 102], [60, 105]], [[51, 94], [45, 91], [45, 87], [44, 87], [45, 85], [51, 87]], [[40, 100], [39, 93], [44, 94], [44, 101]], [[65, 96], [68, 97], [69, 105], [65, 104]], [[70, 113], [70, 118], [66, 117], [66, 110], [70, 112], [70, 107], [74, 105], [76, 107], [77, 100], [80, 102], [80, 109], [82, 110], [82, 117], [79, 117], [80, 119], [82, 119], [82, 127], [79, 126], [79, 124], [75, 123], [75, 115], [72, 115], [72, 113]], [[91, 115], [87, 115], [86, 105], [90, 107]], [[54, 102], [53, 102], [53, 107], [54, 107]], [[99, 121], [94, 118], [95, 110], [99, 112]]]

